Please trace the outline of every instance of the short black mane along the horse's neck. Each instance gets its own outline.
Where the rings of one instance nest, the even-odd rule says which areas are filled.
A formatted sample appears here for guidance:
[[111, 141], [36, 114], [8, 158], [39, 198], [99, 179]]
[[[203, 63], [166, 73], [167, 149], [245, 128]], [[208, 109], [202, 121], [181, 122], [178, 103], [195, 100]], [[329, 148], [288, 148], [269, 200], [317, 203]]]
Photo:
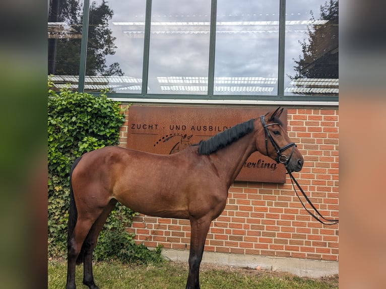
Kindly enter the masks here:
[[236, 124], [235, 126], [232, 126], [231, 128], [228, 128], [207, 140], [201, 140], [198, 144], [200, 146], [199, 154], [213, 154], [218, 150], [225, 148], [226, 146], [228, 146], [228, 144], [231, 144], [240, 137], [243, 137], [244, 135], [248, 134], [253, 130], [253, 120], [254, 119], [252, 118], [245, 122]]

